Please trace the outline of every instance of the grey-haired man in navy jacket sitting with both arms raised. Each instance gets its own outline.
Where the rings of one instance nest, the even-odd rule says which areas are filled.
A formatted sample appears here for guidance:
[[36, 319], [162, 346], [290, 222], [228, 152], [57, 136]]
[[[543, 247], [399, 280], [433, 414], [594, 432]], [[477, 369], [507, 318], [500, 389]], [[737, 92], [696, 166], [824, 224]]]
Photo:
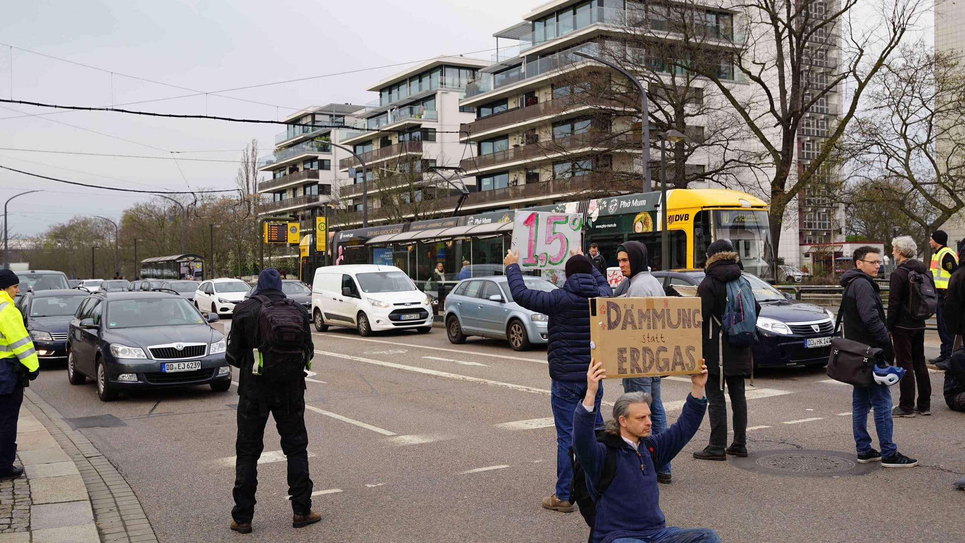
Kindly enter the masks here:
[[[603, 364], [592, 361], [587, 371], [587, 391], [573, 413], [573, 450], [586, 472], [587, 487], [596, 495], [604, 475], [608, 449], [616, 449], [617, 472], [595, 500], [596, 514], [590, 541], [593, 543], [719, 543], [713, 529], [667, 527], [660, 510], [660, 489], [654, 466], [669, 463], [701, 427], [707, 408], [703, 396], [707, 367], [690, 376], [691, 390], [676, 422], [666, 431], [650, 436], [650, 401], [646, 392], [625, 393], [613, 407], [606, 433], [597, 440], [593, 420], [598, 418], [597, 387], [606, 377]], [[698, 399], [700, 397], [700, 399]], [[643, 452], [641, 452], [643, 451]]]

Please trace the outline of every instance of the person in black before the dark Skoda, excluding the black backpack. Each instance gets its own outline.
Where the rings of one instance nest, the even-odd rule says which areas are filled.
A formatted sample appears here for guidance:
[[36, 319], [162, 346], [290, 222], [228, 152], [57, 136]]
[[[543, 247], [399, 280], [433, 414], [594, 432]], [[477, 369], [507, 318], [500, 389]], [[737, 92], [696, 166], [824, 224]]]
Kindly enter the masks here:
[[[305, 379], [294, 383], [274, 384], [261, 382], [252, 375], [255, 364], [253, 350], [258, 348], [256, 337], [262, 310], [262, 295], [269, 300], [283, 300], [282, 279], [274, 268], [262, 270], [258, 286], [252, 298], [234, 306], [232, 328], [228, 334], [228, 362], [239, 368], [237, 455], [234, 464], [234, 508], [231, 529], [240, 533], [251, 532], [255, 515], [255, 489], [258, 488], [258, 459], [264, 448], [264, 425], [271, 413], [281, 436], [282, 451], [288, 457], [289, 495], [291, 497], [291, 526], [302, 528], [321, 520], [312, 510], [312, 479], [308, 473], [308, 432], [305, 429]], [[315, 353], [311, 341], [308, 311], [300, 304], [295, 306], [304, 313], [308, 356]]]

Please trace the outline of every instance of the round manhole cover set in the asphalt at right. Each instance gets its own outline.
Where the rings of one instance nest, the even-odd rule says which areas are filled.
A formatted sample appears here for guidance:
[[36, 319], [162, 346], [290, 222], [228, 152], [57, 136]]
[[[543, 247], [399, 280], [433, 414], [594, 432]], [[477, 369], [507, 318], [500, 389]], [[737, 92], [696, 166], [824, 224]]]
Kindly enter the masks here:
[[854, 454], [835, 450], [763, 450], [731, 458], [731, 463], [751, 472], [805, 477], [864, 475], [880, 468], [878, 463], [858, 464]]

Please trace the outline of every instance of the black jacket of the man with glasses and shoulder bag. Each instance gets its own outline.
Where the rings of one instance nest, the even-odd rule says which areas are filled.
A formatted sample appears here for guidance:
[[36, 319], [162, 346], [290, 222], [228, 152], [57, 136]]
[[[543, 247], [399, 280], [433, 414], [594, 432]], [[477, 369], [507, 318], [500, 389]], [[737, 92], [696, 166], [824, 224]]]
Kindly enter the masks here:
[[882, 349], [881, 356], [894, 363], [895, 350], [885, 326], [885, 307], [878, 284], [868, 273], [853, 268], [841, 274], [841, 286], [845, 287], [841, 299], [844, 337]]

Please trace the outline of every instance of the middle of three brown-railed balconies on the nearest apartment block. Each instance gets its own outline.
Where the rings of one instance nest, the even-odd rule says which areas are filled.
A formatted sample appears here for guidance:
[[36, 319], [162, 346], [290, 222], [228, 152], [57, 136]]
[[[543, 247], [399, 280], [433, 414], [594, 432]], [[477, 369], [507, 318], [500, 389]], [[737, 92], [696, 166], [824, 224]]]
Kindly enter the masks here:
[[538, 160], [584, 148], [614, 149], [632, 143], [639, 144], [640, 140], [641, 136], [639, 135], [592, 131], [545, 142], [514, 146], [505, 151], [497, 151], [479, 157], [465, 158], [459, 162], [459, 166], [467, 172], [483, 171], [511, 162]]

